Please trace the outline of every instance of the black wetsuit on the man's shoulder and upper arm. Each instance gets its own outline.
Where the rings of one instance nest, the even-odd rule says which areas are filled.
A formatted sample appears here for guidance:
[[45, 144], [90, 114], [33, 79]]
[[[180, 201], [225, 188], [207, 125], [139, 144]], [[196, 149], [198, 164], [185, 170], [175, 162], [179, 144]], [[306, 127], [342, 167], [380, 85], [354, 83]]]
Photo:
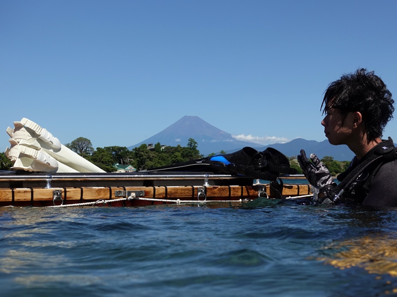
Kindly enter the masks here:
[[[368, 159], [373, 154], [382, 154], [387, 149], [395, 147], [393, 140], [384, 140], [372, 148], [365, 156], [357, 161], [354, 157], [349, 168], [338, 175], [337, 179], [342, 181], [356, 166]], [[397, 159], [386, 163], [378, 163], [363, 176], [368, 177], [357, 184], [356, 189], [344, 194], [345, 202], [370, 206], [397, 206]]]

